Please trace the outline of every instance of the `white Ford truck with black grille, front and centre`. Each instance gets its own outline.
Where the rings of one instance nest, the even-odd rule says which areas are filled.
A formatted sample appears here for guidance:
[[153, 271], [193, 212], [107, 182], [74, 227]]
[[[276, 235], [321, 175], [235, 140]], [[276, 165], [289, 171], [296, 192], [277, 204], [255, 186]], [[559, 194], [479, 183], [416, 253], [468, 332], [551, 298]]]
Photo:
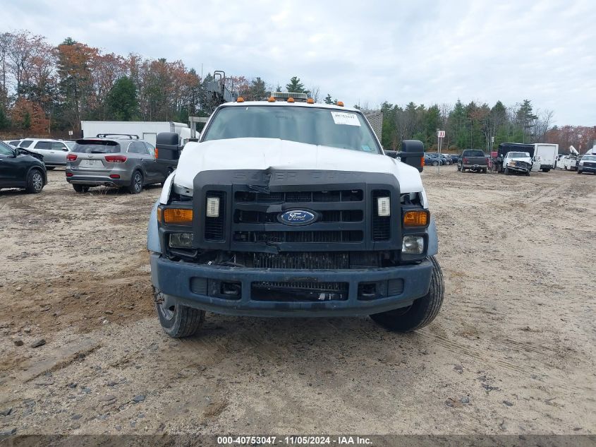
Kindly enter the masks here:
[[426, 326], [444, 286], [422, 143], [396, 160], [360, 111], [286, 96], [226, 102], [184, 146], [147, 234], [162, 328], [193, 335], [205, 311]]

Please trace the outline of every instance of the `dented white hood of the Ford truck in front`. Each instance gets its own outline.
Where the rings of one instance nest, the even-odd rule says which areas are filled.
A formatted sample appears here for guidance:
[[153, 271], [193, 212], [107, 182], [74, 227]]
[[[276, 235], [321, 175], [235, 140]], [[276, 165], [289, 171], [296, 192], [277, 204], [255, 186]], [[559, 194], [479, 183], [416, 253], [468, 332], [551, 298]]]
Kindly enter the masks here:
[[274, 138], [233, 138], [187, 143], [178, 160], [174, 185], [192, 190], [197, 174], [220, 169], [380, 172], [396, 176], [402, 192], [424, 191], [418, 169], [394, 158]]

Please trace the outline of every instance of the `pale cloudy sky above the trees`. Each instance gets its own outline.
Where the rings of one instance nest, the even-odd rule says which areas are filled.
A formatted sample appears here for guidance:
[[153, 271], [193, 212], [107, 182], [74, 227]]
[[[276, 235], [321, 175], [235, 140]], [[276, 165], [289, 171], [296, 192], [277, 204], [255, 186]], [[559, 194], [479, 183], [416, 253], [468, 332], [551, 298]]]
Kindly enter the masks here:
[[0, 0], [0, 11], [0, 32], [273, 86], [298, 76], [346, 105], [529, 99], [554, 124], [596, 126], [593, 0]]

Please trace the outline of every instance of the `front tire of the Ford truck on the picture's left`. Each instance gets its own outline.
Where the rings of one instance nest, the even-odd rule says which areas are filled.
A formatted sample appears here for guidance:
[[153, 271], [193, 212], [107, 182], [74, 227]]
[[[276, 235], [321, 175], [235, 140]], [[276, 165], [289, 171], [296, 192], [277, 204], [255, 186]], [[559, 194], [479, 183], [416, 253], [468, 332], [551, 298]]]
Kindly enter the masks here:
[[154, 291], [154, 297], [159, 323], [172, 338], [195, 335], [205, 321], [205, 311], [183, 306], [159, 290]]

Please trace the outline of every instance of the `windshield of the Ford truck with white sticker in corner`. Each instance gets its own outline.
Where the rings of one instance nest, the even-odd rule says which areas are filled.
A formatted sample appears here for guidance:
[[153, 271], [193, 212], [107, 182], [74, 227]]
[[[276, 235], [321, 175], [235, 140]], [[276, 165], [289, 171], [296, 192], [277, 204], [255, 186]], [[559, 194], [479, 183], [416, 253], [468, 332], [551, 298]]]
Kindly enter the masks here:
[[362, 115], [300, 106], [223, 107], [202, 141], [228, 138], [278, 138], [333, 148], [380, 153]]

